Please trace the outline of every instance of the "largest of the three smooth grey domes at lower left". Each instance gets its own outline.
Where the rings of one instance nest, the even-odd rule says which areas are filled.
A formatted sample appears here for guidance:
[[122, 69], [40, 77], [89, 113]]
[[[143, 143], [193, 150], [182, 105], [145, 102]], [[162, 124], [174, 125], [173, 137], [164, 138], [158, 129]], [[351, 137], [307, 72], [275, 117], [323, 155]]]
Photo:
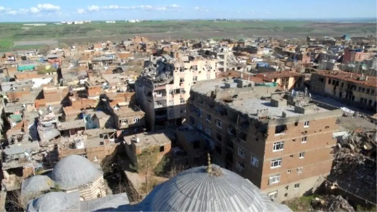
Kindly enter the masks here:
[[56, 164], [51, 179], [60, 189], [69, 190], [97, 180], [101, 175], [101, 171], [88, 159], [69, 155]]

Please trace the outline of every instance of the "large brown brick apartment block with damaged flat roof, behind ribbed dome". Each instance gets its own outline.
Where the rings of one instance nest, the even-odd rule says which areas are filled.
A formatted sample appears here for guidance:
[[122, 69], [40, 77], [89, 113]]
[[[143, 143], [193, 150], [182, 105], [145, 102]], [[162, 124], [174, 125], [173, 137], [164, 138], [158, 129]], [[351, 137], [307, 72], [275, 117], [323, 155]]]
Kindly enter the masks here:
[[308, 94], [276, 90], [273, 83], [240, 79], [199, 82], [190, 91], [186, 116], [213, 147], [216, 164], [284, 201], [329, 174], [342, 111]]

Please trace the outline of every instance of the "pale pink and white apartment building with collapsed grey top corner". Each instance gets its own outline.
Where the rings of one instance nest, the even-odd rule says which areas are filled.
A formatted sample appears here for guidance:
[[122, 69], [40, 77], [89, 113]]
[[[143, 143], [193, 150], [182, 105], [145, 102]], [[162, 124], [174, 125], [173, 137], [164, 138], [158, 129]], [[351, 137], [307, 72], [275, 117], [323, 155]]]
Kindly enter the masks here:
[[146, 125], [166, 121], [181, 124], [185, 117], [190, 88], [197, 81], [216, 78], [216, 59], [185, 56], [173, 59], [169, 55], [151, 58], [136, 80], [136, 101], [146, 113]]

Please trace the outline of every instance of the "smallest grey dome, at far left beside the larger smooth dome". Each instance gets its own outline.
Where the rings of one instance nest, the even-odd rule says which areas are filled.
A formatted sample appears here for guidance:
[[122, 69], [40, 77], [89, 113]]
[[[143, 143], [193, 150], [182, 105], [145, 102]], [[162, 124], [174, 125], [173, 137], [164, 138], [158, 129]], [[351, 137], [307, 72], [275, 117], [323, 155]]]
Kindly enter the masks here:
[[54, 186], [52, 180], [46, 175], [34, 175], [22, 181], [21, 194], [29, 194], [49, 190]]

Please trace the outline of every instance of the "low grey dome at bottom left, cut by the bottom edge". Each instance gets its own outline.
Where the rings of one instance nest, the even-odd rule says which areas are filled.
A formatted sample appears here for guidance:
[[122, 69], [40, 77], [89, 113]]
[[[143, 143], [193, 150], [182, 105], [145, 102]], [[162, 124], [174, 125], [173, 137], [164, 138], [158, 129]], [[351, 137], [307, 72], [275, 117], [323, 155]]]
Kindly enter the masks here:
[[69, 211], [77, 208], [77, 200], [72, 198], [72, 194], [64, 192], [50, 192], [33, 200], [28, 205], [28, 212], [37, 211]]

